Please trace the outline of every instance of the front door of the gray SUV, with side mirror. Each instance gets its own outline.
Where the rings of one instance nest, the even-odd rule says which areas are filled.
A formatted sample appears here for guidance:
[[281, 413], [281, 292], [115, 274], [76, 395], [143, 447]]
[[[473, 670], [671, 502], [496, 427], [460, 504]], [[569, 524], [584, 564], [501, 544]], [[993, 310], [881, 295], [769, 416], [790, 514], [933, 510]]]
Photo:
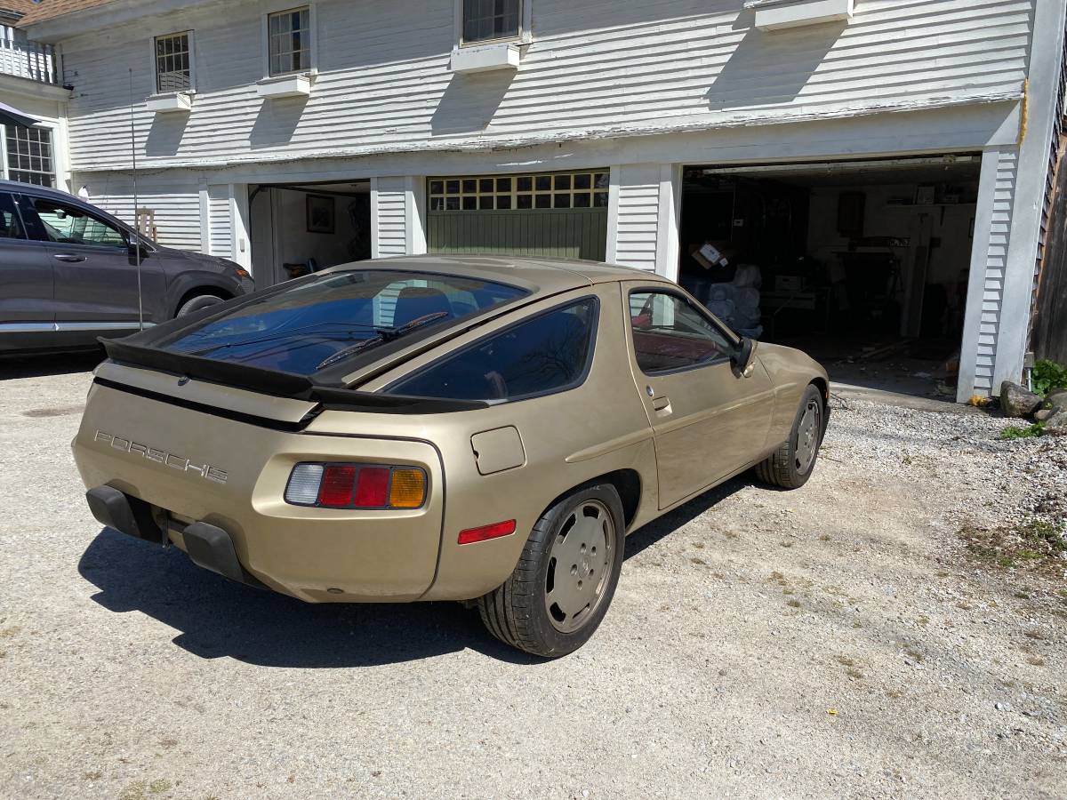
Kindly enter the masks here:
[[[139, 291], [145, 314], [163, 297], [159, 263], [145, 258], [140, 287], [127, 234], [102, 214], [80, 204], [27, 196], [36, 218], [36, 235], [47, 243], [54, 276], [55, 326], [62, 336], [84, 337], [138, 327]], [[149, 316], [145, 317], [150, 320]]]

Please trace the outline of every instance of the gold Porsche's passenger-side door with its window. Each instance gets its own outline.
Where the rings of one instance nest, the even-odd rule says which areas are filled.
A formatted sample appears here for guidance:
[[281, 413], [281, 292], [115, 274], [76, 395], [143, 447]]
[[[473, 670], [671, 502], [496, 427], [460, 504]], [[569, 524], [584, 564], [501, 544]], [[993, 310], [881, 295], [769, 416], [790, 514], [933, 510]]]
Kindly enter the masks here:
[[773, 386], [759, 363], [749, 377], [735, 371], [736, 337], [681, 290], [635, 282], [623, 298], [666, 508], [762, 454]]

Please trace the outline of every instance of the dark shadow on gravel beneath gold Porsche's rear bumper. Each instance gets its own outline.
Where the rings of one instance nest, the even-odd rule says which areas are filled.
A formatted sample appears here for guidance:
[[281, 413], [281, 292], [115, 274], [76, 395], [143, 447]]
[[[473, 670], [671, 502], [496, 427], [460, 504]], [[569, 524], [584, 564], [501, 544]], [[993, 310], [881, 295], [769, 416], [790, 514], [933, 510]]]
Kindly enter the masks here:
[[103, 528], [78, 572], [110, 611], [140, 611], [180, 633], [201, 658], [262, 667], [328, 669], [411, 661], [471, 649], [521, 665], [543, 663], [498, 642], [459, 603], [308, 604], [230, 582], [165, 550]]

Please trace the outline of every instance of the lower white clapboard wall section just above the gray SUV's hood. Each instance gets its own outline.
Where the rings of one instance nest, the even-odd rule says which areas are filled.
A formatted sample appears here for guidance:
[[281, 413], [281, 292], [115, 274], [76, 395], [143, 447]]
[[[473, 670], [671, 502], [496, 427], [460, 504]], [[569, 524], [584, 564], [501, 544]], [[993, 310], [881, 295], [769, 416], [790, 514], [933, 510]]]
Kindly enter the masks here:
[[[93, 176], [85, 181], [90, 203], [134, 225], [133, 186], [128, 175]], [[166, 247], [198, 251], [201, 240], [200, 195], [194, 183], [175, 181], [174, 186], [140, 181], [138, 206], [155, 211], [157, 241]]]

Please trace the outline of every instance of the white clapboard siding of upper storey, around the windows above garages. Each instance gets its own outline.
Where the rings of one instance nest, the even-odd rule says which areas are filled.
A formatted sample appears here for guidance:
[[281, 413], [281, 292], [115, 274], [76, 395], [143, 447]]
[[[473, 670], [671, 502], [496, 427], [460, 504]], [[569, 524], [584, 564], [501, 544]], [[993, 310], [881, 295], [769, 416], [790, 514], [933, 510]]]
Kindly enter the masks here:
[[200, 3], [62, 43], [75, 169], [129, 160], [129, 65], [160, 31], [196, 31], [192, 112], [152, 114], [134, 68], [145, 163], [491, 146], [664, 126], [849, 114], [1017, 96], [1037, 0], [862, 0], [848, 25], [752, 28], [740, 0], [536, 0], [515, 73], [453, 76], [452, 0], [319, 0], [310, 97], [264, 100], [261, 5]]

